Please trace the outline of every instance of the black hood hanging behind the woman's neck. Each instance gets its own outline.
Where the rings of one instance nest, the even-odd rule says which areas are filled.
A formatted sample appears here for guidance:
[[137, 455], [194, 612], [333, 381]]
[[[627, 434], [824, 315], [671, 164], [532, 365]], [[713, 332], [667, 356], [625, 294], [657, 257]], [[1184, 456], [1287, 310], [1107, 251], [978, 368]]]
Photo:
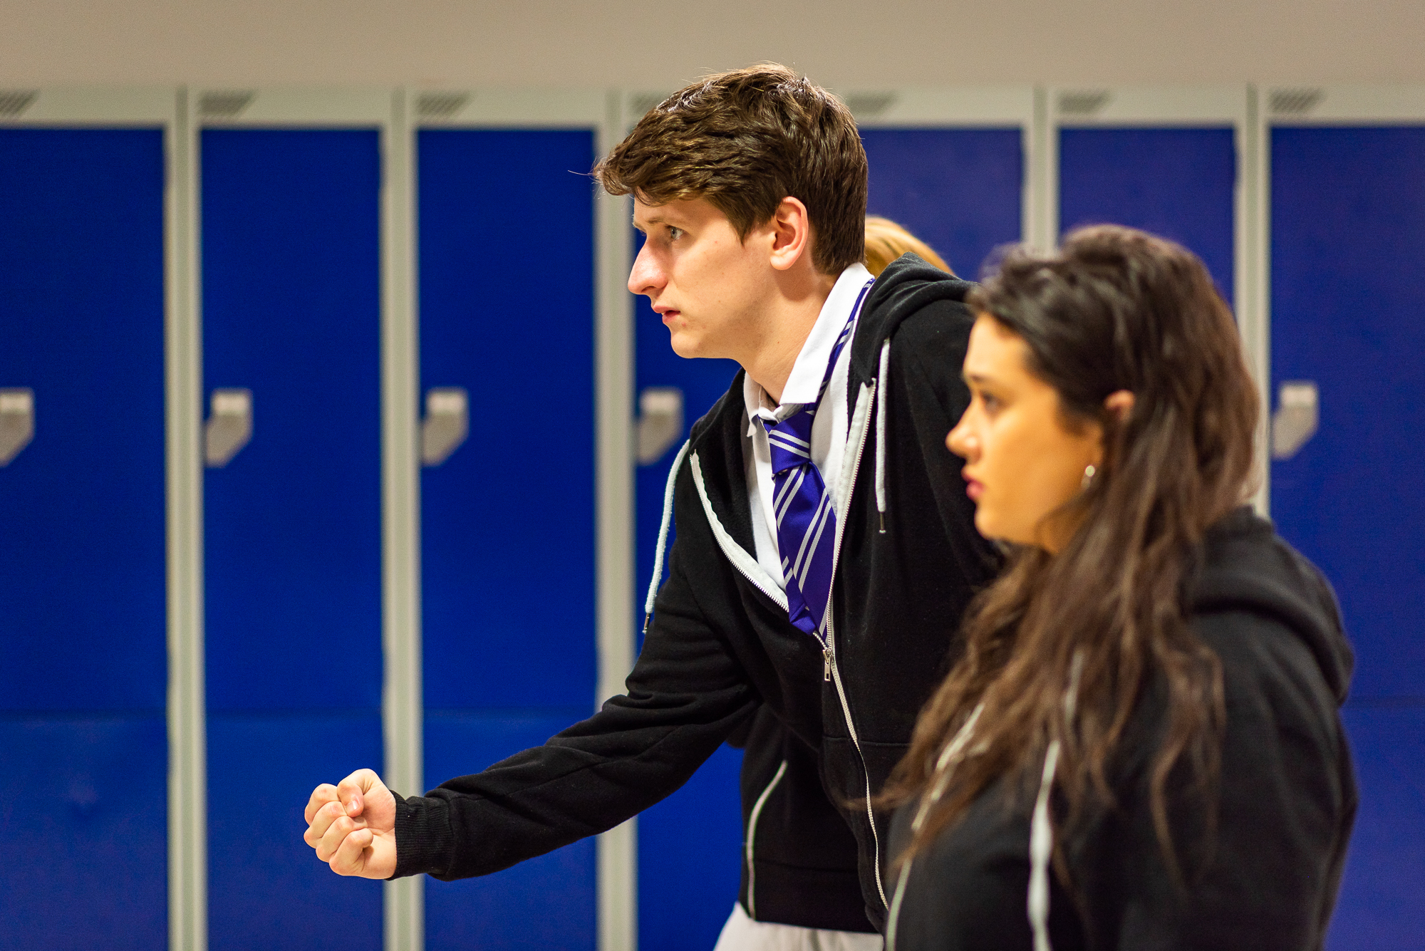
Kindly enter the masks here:
[[1344, 703], [1355, 656], [1331, 585], [1281, 540], [1271, 522], [1241, 507], [1207, 530], [1190, 585], [1191, 611], [1245, 611], [1270, 616], [1305, 643]]

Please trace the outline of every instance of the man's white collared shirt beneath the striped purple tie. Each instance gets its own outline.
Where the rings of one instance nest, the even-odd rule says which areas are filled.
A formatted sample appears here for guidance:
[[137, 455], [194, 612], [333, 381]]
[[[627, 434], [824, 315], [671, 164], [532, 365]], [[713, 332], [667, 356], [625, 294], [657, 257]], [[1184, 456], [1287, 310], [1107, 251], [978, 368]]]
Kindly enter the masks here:
[[[817, 392], [826, 374], [826, 360], [836, 346], [836, 337], [846, 326], [861, 289], [871, 280], [871, 272], [865, 265], [851, 265], [836, 278], [826, 303], [817, 315], [817, 323], [807, 342], [802, 343], [792, 373], [782, 387], [781, 404], [774, 404], [761, 384], [751, 376], [742, 377], [742, 401], [747, 406], [747, 437], [742, 440], [742, 460], [747, 473], [747, 495], [752, 510], [752, 540], [757, 544], [757, 562], [772, 577], [784, 591], [787, 582], [782, 577], [782, 559], [777, 551], [777, 518], [772, 515], [772, 497], [775, 483], [772, 477], [772, 450], [767, 443], [767, 429], [758, 419], [779, 423], [807, 403], [817, 401]], [[831, 491], [834, 511], [841, 513], [842, 485], [841, 460], [846, 448], [846, 433], [849, 419], [846, 416], [846, 376], [851, 370], [851, 342], [841, 349], [836, 366], [831, 372], [831, 382], [826, 384], [826, 396], [821, 400], [817, 417], [811, 424], [811, 461], [821, 473], [821, 478]]]

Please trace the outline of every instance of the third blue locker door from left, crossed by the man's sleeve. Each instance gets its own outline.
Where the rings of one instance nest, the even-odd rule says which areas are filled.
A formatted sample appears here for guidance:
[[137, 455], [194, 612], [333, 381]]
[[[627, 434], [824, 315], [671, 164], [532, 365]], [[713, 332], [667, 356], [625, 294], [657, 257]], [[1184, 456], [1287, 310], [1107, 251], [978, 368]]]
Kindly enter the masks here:
[[[418, 137], [420, 380], [469, 399], [420, 480], [428, 786], [594, 709], [593, 161], [589, 130]], [[596, 910], [590, 839], [430, 880], [426, 947], [591, 951]]]

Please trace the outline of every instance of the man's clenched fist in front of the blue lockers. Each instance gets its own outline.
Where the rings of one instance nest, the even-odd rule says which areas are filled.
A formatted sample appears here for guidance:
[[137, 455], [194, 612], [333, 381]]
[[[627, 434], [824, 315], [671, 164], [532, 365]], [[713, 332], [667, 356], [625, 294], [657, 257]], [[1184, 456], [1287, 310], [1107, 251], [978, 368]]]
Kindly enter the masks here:
[[390, 878], [396, 871], [396, 799], [372, 770], [318, 786], [305, 816], [302, 839], [338, 876]]

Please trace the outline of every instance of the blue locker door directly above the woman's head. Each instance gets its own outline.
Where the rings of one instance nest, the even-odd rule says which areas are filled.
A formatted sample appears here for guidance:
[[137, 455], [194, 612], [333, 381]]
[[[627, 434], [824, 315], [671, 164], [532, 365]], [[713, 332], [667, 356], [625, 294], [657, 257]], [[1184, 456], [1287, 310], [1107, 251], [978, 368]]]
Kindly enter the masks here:
[[1227, 128], [1059, 131], [1059, 228], [1114, 224], [1184, 245], [1233, 300], [1237, 147]]

